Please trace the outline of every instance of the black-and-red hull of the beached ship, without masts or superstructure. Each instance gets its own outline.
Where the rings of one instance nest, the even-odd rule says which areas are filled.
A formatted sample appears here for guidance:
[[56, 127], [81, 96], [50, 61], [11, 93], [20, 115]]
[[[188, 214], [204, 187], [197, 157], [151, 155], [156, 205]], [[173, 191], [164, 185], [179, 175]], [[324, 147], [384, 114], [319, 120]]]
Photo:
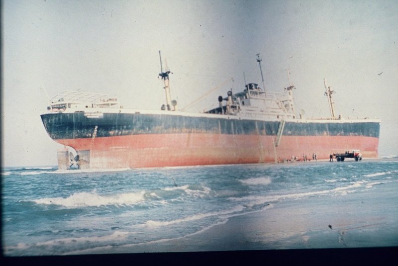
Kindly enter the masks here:
[[[84, 168], [145, 168], [328, 159], [361, 150], [377, 158], [377, 121], [286, 121], [223, 115], [44, 114], [47, 132], [72, 147]], [[68, 164], [67, 162], [66, 164]]]

